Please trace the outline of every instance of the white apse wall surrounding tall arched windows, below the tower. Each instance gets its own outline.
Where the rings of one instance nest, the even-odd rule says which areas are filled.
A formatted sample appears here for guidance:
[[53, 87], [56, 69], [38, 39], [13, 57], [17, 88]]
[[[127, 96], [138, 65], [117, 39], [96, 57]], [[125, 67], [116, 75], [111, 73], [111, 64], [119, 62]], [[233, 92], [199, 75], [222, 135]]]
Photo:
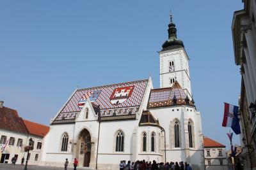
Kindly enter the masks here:
[[[204, 165], [203, 148], [202, 148], [202, 126], [200, 113], [195, 108], [187, 106], [156, 108], [150, 110], [152, 115], [159, 120], [159, 124], [166, 131], [166, 160], [172, 162], [189, 162], [191, 164]], [[175, 148], [173, 136], [173, 120], [178, 119], [180, 122], [180, 147]], [[188, 120], [193, 121], [194, 127], [194, 146], [186, 146], [188, 138]], [[171, 126], [172, 125], [172, 126]], [[188, 145], [188, 144], [187, 144]], [[189, 150], [189, 152], [186, 152]]]

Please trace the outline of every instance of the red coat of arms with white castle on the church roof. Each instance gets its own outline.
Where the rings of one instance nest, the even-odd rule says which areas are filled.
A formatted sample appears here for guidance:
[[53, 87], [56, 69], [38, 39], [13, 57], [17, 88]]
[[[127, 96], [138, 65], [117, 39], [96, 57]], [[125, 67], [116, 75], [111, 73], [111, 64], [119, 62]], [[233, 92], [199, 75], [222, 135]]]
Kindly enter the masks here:
[[116, 88], [110, 96], [110, 103], [118, 105], [126, 101], [132, 94], [133, 86]]

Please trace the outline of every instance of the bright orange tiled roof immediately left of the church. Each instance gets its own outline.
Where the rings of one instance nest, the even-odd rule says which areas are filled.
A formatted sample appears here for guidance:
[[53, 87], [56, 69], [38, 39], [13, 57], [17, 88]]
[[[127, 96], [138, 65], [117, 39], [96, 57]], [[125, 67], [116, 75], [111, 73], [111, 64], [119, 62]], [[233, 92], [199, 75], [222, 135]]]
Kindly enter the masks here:
[[37, 124], [24, 119], [23, 122], [26, 125], [29, 134], [44, 137], [49, 132], [49, 127], [46, 125]]

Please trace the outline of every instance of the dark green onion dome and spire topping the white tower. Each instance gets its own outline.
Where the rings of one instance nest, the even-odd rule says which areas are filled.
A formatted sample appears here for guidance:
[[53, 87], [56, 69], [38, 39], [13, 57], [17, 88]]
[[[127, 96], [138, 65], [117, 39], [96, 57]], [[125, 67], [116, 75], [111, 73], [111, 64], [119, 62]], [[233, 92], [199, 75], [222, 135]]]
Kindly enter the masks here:
[[179, 48], [179, 47], [184, 47], [183, 42], [177, 38], [177, 29], [176, 29], [176, 25], [172, 22], [172, 15], [170, 15], [171, 17], [171, 22], [170, 24], [168, 24], [168, 40], [166, 40], [162, 47], [163, 50], [169, 50], [169, 49], [173, 49], [173, 48]]

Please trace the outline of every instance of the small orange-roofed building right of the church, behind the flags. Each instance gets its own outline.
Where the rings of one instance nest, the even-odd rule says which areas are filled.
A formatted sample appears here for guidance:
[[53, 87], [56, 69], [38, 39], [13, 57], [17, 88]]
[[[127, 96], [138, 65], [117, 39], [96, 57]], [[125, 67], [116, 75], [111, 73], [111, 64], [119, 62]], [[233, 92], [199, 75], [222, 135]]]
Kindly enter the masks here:
[[226, 146], [210, 138], [204, 137], [204, 158], [205, 169], [207, 170], [226, 170], [227, 156]]

